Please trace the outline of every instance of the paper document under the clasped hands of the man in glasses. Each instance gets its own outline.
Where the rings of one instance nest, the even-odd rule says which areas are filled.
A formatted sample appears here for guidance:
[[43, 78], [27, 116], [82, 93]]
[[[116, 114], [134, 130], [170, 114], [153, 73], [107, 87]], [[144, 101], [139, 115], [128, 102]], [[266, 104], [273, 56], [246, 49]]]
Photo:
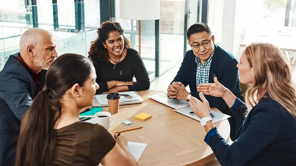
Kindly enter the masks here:
[[161, 102], [164, 105], [172, 107], [174, 109], [181, 109], [181, 108], [189, 106], [187, 101], [178, 100], [178, 99], [170, 99], [167, 96], [167, 92], [158, 93], [156, 95], [148, 96], [148, 97], [150, 97], [151, 99], [154, 99], [154, 100], [156, 100], [158, 102]]

